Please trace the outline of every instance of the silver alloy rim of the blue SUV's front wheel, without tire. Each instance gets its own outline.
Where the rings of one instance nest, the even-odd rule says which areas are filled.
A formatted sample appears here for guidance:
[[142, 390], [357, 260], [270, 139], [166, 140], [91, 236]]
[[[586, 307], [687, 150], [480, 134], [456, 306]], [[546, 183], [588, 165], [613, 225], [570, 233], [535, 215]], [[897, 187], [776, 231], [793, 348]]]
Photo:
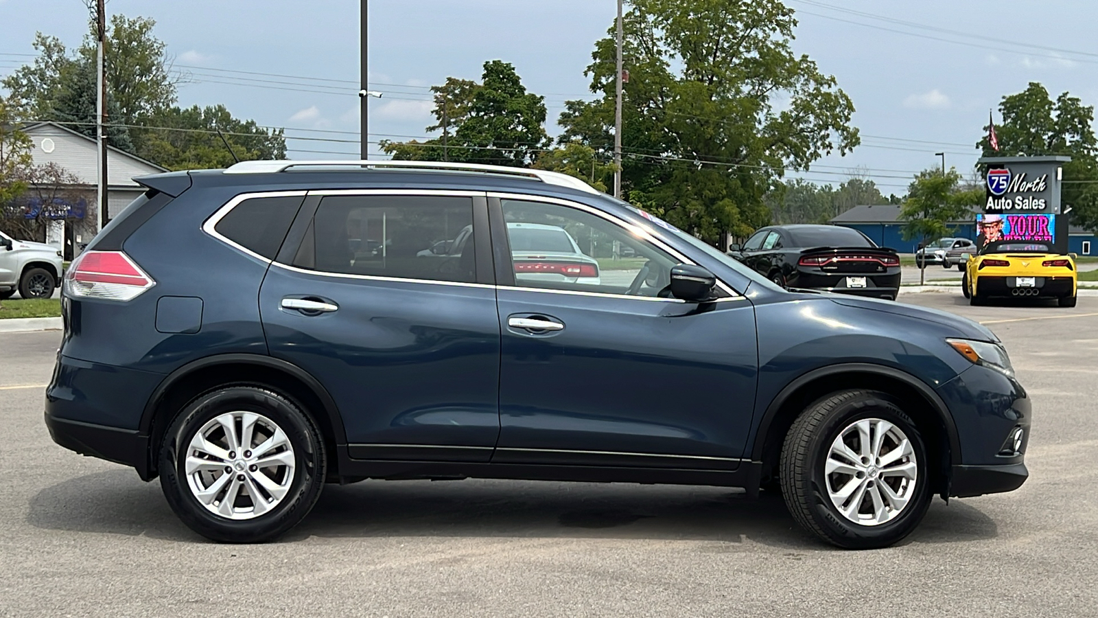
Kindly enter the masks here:
[[848, 520], [878, 526], [896, 518], [915, 496], [918, 465], [907, 435], [876, 418], [839, 432], [824, 464], [828, 496]]

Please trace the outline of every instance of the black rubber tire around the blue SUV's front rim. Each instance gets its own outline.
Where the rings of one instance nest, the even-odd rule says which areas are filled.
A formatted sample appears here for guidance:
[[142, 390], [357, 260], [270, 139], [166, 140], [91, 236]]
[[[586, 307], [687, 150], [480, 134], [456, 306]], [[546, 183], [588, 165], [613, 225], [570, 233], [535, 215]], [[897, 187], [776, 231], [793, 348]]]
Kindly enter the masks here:
[[[832, 504], [825, 478], [831, 443], [852, 422], [867, 418], [886, 420], [907, 435], [917, 470], [908, 504], [876, 526], [847, 519]], [[892, 397], [874, 390], [843, 390], [808, 406], [789, 428], [782, 448], [782, 495], [793, 518], [821, 540], [844, 549], [886, 548], [911, 533], [927, 514], [932, 498], [927, 464], [916, 423]]]

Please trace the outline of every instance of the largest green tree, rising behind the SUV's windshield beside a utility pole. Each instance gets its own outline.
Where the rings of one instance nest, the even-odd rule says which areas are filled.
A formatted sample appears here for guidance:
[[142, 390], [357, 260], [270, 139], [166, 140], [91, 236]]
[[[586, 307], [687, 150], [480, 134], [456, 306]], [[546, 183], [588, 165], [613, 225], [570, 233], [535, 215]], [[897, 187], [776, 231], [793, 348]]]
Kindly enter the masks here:
[[[763, 196], [859, 143], [836, 79], [792, 51], [796, 20], [777, 0], [632, 0], [625, 18], [621, 135], [626, 197], [715, 242], [766, 223]], [[610, 32], [613, 33], [613, 27]], [[606, 147], [614, 128], [615, 41], [595, 44], [595, 101], [570, 101], [562, 142]]]

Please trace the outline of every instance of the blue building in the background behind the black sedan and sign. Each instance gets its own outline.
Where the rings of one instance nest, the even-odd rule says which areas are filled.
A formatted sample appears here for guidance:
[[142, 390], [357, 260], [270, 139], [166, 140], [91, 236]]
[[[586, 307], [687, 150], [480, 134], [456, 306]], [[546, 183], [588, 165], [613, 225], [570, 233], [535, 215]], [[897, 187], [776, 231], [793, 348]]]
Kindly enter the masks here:
[[[834, 225], [852, 228], [862, 232], [879, 246], [895, 249], [900, 253], [915, 253], [919, 240], [904, 240], [905, 222], [899, 218], [899, 205], [855, 206], [831, 219]], [[966, 221], [950, 223], [950, 236], [976, 240], [976, 210]], [[930, 239], [933, 240], [933, 239]], [[1093, 232], [1072, 225], [1068, 232], [1067, 251], [1079, 255], [1098, 255], [1098, 238]]]

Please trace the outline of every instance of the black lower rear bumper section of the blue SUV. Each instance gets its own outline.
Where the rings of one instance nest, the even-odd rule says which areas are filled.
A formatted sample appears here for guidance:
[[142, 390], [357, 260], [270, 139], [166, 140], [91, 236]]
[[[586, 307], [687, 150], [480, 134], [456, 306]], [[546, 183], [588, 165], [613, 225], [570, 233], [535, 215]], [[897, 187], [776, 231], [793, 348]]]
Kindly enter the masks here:
[[46, 428], [54, 442], [81, 455], [128, 465], [149, 481], [148, 437], [136, 431], [60, 419], [46, 407]]

